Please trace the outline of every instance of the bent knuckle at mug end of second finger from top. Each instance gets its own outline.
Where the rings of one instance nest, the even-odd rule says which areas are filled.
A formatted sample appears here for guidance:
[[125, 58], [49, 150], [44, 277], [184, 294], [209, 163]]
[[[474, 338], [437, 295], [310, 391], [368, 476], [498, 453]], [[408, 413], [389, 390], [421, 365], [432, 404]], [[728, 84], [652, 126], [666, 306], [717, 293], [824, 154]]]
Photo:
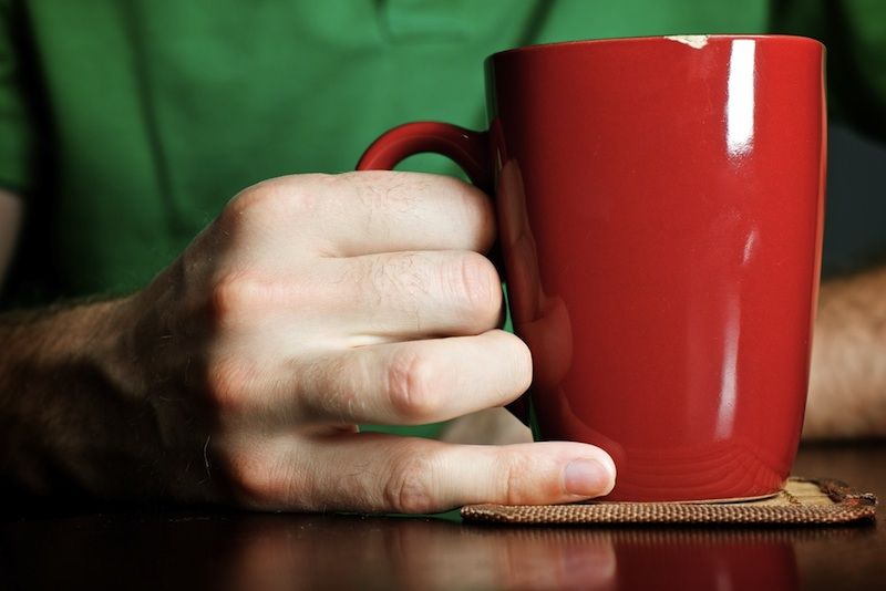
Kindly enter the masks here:
[[502, 308], [502, 283], [492, 261], [477, 252], [459, 257], [446, 269], [445, 287], [477, 321], [495, 321]]

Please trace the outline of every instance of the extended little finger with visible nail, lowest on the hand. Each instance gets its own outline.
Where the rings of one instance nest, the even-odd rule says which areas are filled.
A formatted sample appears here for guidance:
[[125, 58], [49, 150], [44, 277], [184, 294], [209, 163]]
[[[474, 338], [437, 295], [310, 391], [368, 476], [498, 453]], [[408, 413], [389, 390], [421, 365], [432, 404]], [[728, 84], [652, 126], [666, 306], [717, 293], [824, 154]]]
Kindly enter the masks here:
[[616, 473], [604, 450], [580, 443], [474, 446], [374, 433], [287, 438], [247, 466], [244, 500], [262, 509], [405, 514], [574, 502], [609, 492]]

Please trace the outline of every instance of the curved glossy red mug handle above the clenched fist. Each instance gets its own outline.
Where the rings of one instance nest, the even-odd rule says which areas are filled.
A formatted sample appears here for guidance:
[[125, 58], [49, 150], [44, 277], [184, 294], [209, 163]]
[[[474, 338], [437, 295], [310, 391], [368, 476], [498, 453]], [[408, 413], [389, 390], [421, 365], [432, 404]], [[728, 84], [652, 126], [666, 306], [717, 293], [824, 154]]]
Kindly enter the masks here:
[[451, 158], [480, 189], [492, 190], [488, 133], [449, 123], [420, 121], [389, 129], [367, 148], [357, 169], [390, 170], [404, 158], [425, 152]]

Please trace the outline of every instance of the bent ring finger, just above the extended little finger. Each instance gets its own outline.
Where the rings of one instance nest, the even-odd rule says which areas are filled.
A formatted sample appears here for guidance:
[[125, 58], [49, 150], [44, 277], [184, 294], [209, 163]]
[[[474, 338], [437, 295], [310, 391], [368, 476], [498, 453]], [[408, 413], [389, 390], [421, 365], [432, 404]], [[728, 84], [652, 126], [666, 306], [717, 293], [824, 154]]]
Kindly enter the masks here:
[[504, 405], [532, 381], [526, 345], [501, 330], [372, 345], [302, 360], [296, 395], [278, 392], [278, 422], [420, 425]]

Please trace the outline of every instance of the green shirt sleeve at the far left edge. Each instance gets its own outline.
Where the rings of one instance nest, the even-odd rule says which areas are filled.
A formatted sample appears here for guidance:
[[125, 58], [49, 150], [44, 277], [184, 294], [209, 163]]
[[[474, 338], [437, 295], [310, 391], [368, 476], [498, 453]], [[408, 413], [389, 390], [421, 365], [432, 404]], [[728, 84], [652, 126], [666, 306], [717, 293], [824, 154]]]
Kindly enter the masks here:
[[21, 194], [33, 180], [34, 133], [16, 43], [21, 23], [14, 20], [10, 2], [0, 1], [0, 186]]

